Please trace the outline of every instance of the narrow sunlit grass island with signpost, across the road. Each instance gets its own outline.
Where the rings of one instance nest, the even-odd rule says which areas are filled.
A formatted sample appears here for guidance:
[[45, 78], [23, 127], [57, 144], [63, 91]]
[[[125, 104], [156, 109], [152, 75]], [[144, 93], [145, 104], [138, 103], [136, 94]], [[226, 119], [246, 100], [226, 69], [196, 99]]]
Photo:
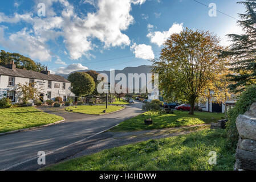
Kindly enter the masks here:
[[100, 106], [72, 106], [72, 107], [66, 107], [65, 110], [71, 111], [74, 113], [83, 113], [83, 114], [104, 114], [103, 111], [106, 110], [106, 113], [112, 113], [113, 111], [121, 110], [124, 107], [122, 106], [108, 106], [108, 109], [106, 109], [105, 105]]

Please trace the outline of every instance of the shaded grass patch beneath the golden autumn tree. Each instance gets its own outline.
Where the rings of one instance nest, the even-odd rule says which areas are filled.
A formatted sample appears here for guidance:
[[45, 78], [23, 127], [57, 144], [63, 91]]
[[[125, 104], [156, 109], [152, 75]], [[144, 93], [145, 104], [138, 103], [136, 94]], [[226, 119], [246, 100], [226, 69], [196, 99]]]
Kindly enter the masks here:
[[152, 114], [153, 125], [147, 126], [144, 125], [144, 119], [149, 118], [149, 113], [144, 113], [121, 122], [119, 126], [114, 127], [111, 131], [138, 131], [200, 125], [217, 122], [224, 116], [222, 113], [195, 112], [194, 115], [189, 115], [186, 111], [174, 111], [174, 114]]

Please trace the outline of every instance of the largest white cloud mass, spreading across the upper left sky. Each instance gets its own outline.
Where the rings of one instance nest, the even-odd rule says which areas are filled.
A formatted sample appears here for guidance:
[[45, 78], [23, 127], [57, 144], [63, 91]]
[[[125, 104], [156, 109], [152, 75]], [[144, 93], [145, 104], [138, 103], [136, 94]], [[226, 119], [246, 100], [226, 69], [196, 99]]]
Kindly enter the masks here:
[[[38, 11], [37, 5], [41, 0], [34, 0], [34, 12]], [[97, 46], [92, 42], [93, 39], [98, 39], [104, 48], [116, 46], [129, 46], [131, 40], [123, 33], [128, 27], [134, 23], [133, 16], [130, 14], [132, 3], [134, 5], [142, 5], [146, 0], [86, 0], [87, 3], [95, 3], [96, 12], [78, 16], [67, 0], [47, 0], [43, 1], [46, 5], [46, 17], [40, 18], [31, 14], [14, 14], [6, 16], [0, 13], [0, 23], [18, 23], [25, 21], [30, 23], [30, 30], [14, 32], [9, 38], [2, 38], [8, 43], [2, 43], [4, 46], [11, 47], [14, 51], [22, 54], [27, 54], [31, 58], [39, 59], [40, 61], [50, 59], [50, 51], [47, 49], [48, 40], [55, 40], [59, 36], [64, 39], [64, 44], [71, 59], [78, 60], [82, 56], [91, 57], [91, 50]], [[62, 13], [57, 16], [52, 5], [60, 3], [63, 7]], [[3, 31], [3, 30], [2, 30]], [[4, 35], [4, 33], [3, 33]], [[18, 38], [17, 40], [13, 39]], [[19, 41], [25, 42], [17, 46]], [[32, 41], [30, 43], [30, 41]], [[35, 51], [36, 46], [39, 50]], [[38, 53], [36, 53], [38, 52]], [[39, 55], [42, 53], [42, 56]]]

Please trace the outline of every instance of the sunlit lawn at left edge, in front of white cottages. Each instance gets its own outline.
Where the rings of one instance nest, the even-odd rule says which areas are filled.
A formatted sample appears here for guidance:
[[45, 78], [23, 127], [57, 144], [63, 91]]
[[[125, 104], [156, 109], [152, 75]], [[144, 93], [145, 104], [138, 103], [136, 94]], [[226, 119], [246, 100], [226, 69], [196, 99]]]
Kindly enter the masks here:
[[62, 117], [43, 113], [34, 107], [0, 109], [0, 133], [47, 125], [61, 120]]

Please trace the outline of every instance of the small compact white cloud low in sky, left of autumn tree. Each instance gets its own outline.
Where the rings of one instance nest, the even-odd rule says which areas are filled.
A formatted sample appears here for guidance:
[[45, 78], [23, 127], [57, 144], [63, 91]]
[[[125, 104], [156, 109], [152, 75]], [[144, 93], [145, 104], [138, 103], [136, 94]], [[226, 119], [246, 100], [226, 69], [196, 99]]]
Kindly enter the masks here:
[[135, 54], [135, 57], [140, 58], [140, 59], [154, 59], [155, 54], [152, 51], [151, 46], [147, 46], [145, 44], [139, 44], [137, 45], [136, 43], [131, 46], [131, 50]]

